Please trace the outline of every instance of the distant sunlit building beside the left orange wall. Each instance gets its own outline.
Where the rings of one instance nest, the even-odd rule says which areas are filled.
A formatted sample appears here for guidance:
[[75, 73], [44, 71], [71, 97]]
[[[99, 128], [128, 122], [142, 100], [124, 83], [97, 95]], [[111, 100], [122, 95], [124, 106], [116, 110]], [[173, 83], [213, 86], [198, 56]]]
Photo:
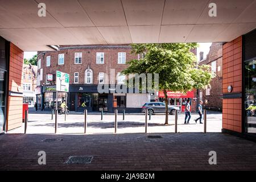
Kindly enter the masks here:
[[23, 103], [30, 106], [34, 105], [36, 100], [36, 72], [38, 67], [31, 64], [23, 64], [22, 85], [23, 85]]

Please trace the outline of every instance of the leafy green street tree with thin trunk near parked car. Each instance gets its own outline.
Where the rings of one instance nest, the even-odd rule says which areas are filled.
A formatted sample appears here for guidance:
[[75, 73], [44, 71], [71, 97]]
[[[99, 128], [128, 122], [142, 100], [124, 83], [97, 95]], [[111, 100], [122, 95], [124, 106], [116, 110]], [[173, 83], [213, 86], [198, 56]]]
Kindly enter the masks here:
[[[185, 93], [193, 89], [204, 89], [215, 76], [208, 65], [197, 66], [196, 56], [191, 52], [191, 49], [198, 46], [197, 43], [132, 44], [131, 46], [133, 53], [146, 52], [146, 55], [142, 59], [129, 61], [129, 67], [122, 73], [159, 74], [159, 90], [163, 91], [166, 103], [164, 123], [166, 125], [168, 125], [167, 90]], [[155, 84], [152, 79], [152, 85]]]

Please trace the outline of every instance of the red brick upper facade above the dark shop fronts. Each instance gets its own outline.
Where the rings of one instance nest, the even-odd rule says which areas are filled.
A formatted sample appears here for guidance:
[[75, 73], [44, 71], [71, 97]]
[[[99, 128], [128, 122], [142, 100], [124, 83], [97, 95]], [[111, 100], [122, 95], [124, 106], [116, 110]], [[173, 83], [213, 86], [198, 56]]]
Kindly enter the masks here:
[[[75, 64], [75, 53], [82, 52], [82, 63]], [[96, 64], [96, 53], [104, 52], [104, 64]], [[85, 84], [85, 70], [89, 67], [93, 71], [93, 84], [98, 84], [98, 74], [104, 72], [110, 77], [110, 69], [115, 69], [115, 76], [118, 72], [127, 68], [127, 64], [118, 64], [118, 52], [126, 52], [126, 63], [132, 59], [138, 59], [138, 55], [131, 53], [131, 47], [124, 46], [84, 46], [75, 48], [60, 48], [60, 51], [39, 52], [38, 60], [41, 59], [43, 68], [43, 81], [46, 83], [47, 73], [57, 71], [69, 73], [69, 84], [74, 84], [74, 73], [79, 72], [79, 84]], [[64, 64], [58, 64], [58, 55], [64, 53]], [[51, 65], [46, 67], [46, 57], [51, 56]], [[106, 81], [106, 80], [104, 80]]]

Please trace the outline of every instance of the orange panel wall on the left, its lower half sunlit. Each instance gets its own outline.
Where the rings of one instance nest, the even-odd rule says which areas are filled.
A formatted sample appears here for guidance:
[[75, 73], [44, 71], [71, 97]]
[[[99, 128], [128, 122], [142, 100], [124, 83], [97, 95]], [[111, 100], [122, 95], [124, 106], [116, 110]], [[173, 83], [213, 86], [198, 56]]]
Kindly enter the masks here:
[[22, 67], [23, 51], [10, 43], [9, 92], [20, 93], [8, 97], [6, 130], [22, 126]]

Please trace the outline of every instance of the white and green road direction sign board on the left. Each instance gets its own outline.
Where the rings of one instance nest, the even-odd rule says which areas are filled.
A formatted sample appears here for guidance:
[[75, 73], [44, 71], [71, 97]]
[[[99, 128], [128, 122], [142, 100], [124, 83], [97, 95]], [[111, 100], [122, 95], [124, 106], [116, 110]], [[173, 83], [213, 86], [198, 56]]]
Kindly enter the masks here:
[[69, 92], [69, 74], [56, 71], [56, 91]]

